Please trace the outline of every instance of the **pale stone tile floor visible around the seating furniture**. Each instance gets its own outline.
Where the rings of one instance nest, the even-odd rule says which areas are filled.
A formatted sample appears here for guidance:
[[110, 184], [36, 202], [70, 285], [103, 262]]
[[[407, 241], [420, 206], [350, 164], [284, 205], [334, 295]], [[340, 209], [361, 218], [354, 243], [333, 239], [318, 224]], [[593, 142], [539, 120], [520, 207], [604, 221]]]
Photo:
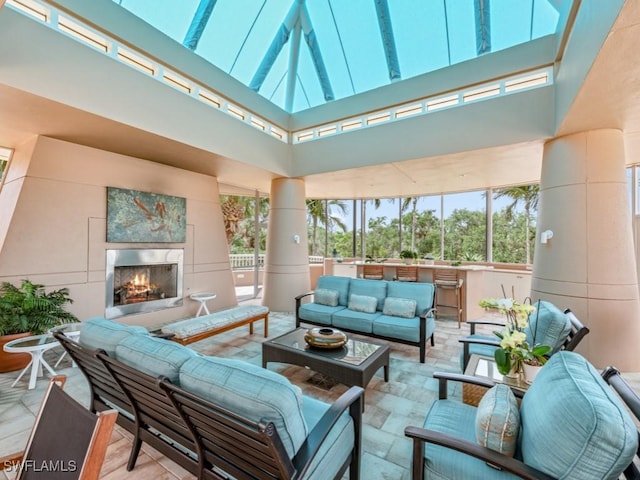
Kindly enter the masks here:
[[[291, 313], [272, 312], [269, 316], [270, 337], [280, 335], [294, 328]], [[422, 425], [424, 416], [437, 398], [438, 384], [433, 379], [434, 371], [459, 372], [460, 343], [458, 338], [468, 334], [463, 324], [457, 328], [457, 322], [438, 320], [436, 322], [435, 346], [427, 347], [424, 364], [418, 361], [418, 349], [399, 343], [391, 344], [390, 381], [386, 383], [382, 369], [376, 373], [367, 387], [366, 408], [363, 415], [363, 453], [362, 475], [364, 479], [408, 480], [411, 478], [411, 442], [404, 436], [408, 425]], [[261, 343], [264, 340], [257, 325], [255, 334], [249, 336], [245, 328], [239, 328], [213, 338], [191, 345], [191, 348], [207, 355], [219, 355], [243, 359], [255, 365], [261, 365]], [[60, 352], [57, 349], [47, 352], [53, 365]], [[278, 371], [300, 386], [305, 394], [328, 403], [339, 397], [347, 387], [341, 384], [326, 390], [313, 385], [308, 380], [314, 372], [286, 364], [270, 363], [270, 370]], [[68, 376], [65, 390], [83, 404], [88, 402], [88, 387], [77, 368], [72, 368], [65, 358], [58, 373]], [[17, 377], [18, 372], [0, 374], [0, 381]], [[640, 391], [640, 374], [625, 375]], [[46, 379], [38, 380], [34, 390], [26, 390], [26, 382], [21, 381], [16, 389], [22, 389], [24, 395], [19, 401], [8, 405], [0, 398], [0, 457], [19, 450], [25, 444], [34, 415], [40, 405]], [[454, 386], [450, 396], [461, 396], [460, 386]], [[143, 446], [135, 469], [127, 472], [125, 465], [131, 448], [131, 436], [116, 426], [107, 458], [102, 468], [103, 479], [191, 479], [191, 474], [171, 462], [154, 449]], [[11, 474], [4, 474], [13, 478]], [[348, 478], [348, 477], [345, 477]]]

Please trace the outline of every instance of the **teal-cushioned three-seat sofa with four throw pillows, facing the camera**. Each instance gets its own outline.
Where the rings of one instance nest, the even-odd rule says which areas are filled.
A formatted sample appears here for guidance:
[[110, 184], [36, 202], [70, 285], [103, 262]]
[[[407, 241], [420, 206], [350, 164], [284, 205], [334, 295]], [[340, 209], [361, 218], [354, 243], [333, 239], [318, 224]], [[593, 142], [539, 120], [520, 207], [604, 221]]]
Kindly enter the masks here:
[[434, 345], [432, 283], [365, 280], [323, 275], [317, 288], [295, 298], [296, 327], [332, 326], [420, 348], [424, 363], [427, 338]]

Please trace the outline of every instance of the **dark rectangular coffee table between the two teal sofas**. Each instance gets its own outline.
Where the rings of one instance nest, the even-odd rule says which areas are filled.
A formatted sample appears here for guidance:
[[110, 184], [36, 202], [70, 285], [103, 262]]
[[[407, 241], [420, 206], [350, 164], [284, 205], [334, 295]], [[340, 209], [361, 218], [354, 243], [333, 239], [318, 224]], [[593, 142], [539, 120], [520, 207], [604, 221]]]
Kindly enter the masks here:
[[344, 385], [362, 388], [384, 367], [384, 381], [389, 381], [389, 345], [349, 338], [345, 346], [335, 350], [314, 348], [304, 341], [306, 332], [300, 327], [263, 342], [262, 367], [268, 362], [300, 365]]

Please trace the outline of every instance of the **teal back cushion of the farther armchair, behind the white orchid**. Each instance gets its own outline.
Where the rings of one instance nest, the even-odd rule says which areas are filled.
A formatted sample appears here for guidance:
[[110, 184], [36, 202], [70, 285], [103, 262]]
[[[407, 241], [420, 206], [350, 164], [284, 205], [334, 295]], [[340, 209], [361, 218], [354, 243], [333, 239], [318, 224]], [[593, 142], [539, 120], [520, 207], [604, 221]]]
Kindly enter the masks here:
[[527, 341], [529, 345], [549, 345], [553, 354], [571, 332], [571, 320], [553, 303], [540, 301], [535, 306], [536, 311], [529, 315], [529, 326], [525, 330]]

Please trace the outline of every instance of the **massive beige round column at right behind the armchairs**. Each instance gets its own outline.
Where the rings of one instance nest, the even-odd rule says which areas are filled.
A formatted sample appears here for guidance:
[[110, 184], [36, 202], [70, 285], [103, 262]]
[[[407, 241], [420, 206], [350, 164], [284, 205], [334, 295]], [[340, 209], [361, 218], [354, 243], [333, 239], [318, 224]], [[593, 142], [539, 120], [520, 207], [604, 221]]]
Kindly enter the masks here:
[[[622, 132], [592, 130], [544, 148], [531, 284], [534, 300], [570, 308], [596, 367], [640, 370], [640, 302]], [[544, 240], [544, 232], [553, 236]]]

